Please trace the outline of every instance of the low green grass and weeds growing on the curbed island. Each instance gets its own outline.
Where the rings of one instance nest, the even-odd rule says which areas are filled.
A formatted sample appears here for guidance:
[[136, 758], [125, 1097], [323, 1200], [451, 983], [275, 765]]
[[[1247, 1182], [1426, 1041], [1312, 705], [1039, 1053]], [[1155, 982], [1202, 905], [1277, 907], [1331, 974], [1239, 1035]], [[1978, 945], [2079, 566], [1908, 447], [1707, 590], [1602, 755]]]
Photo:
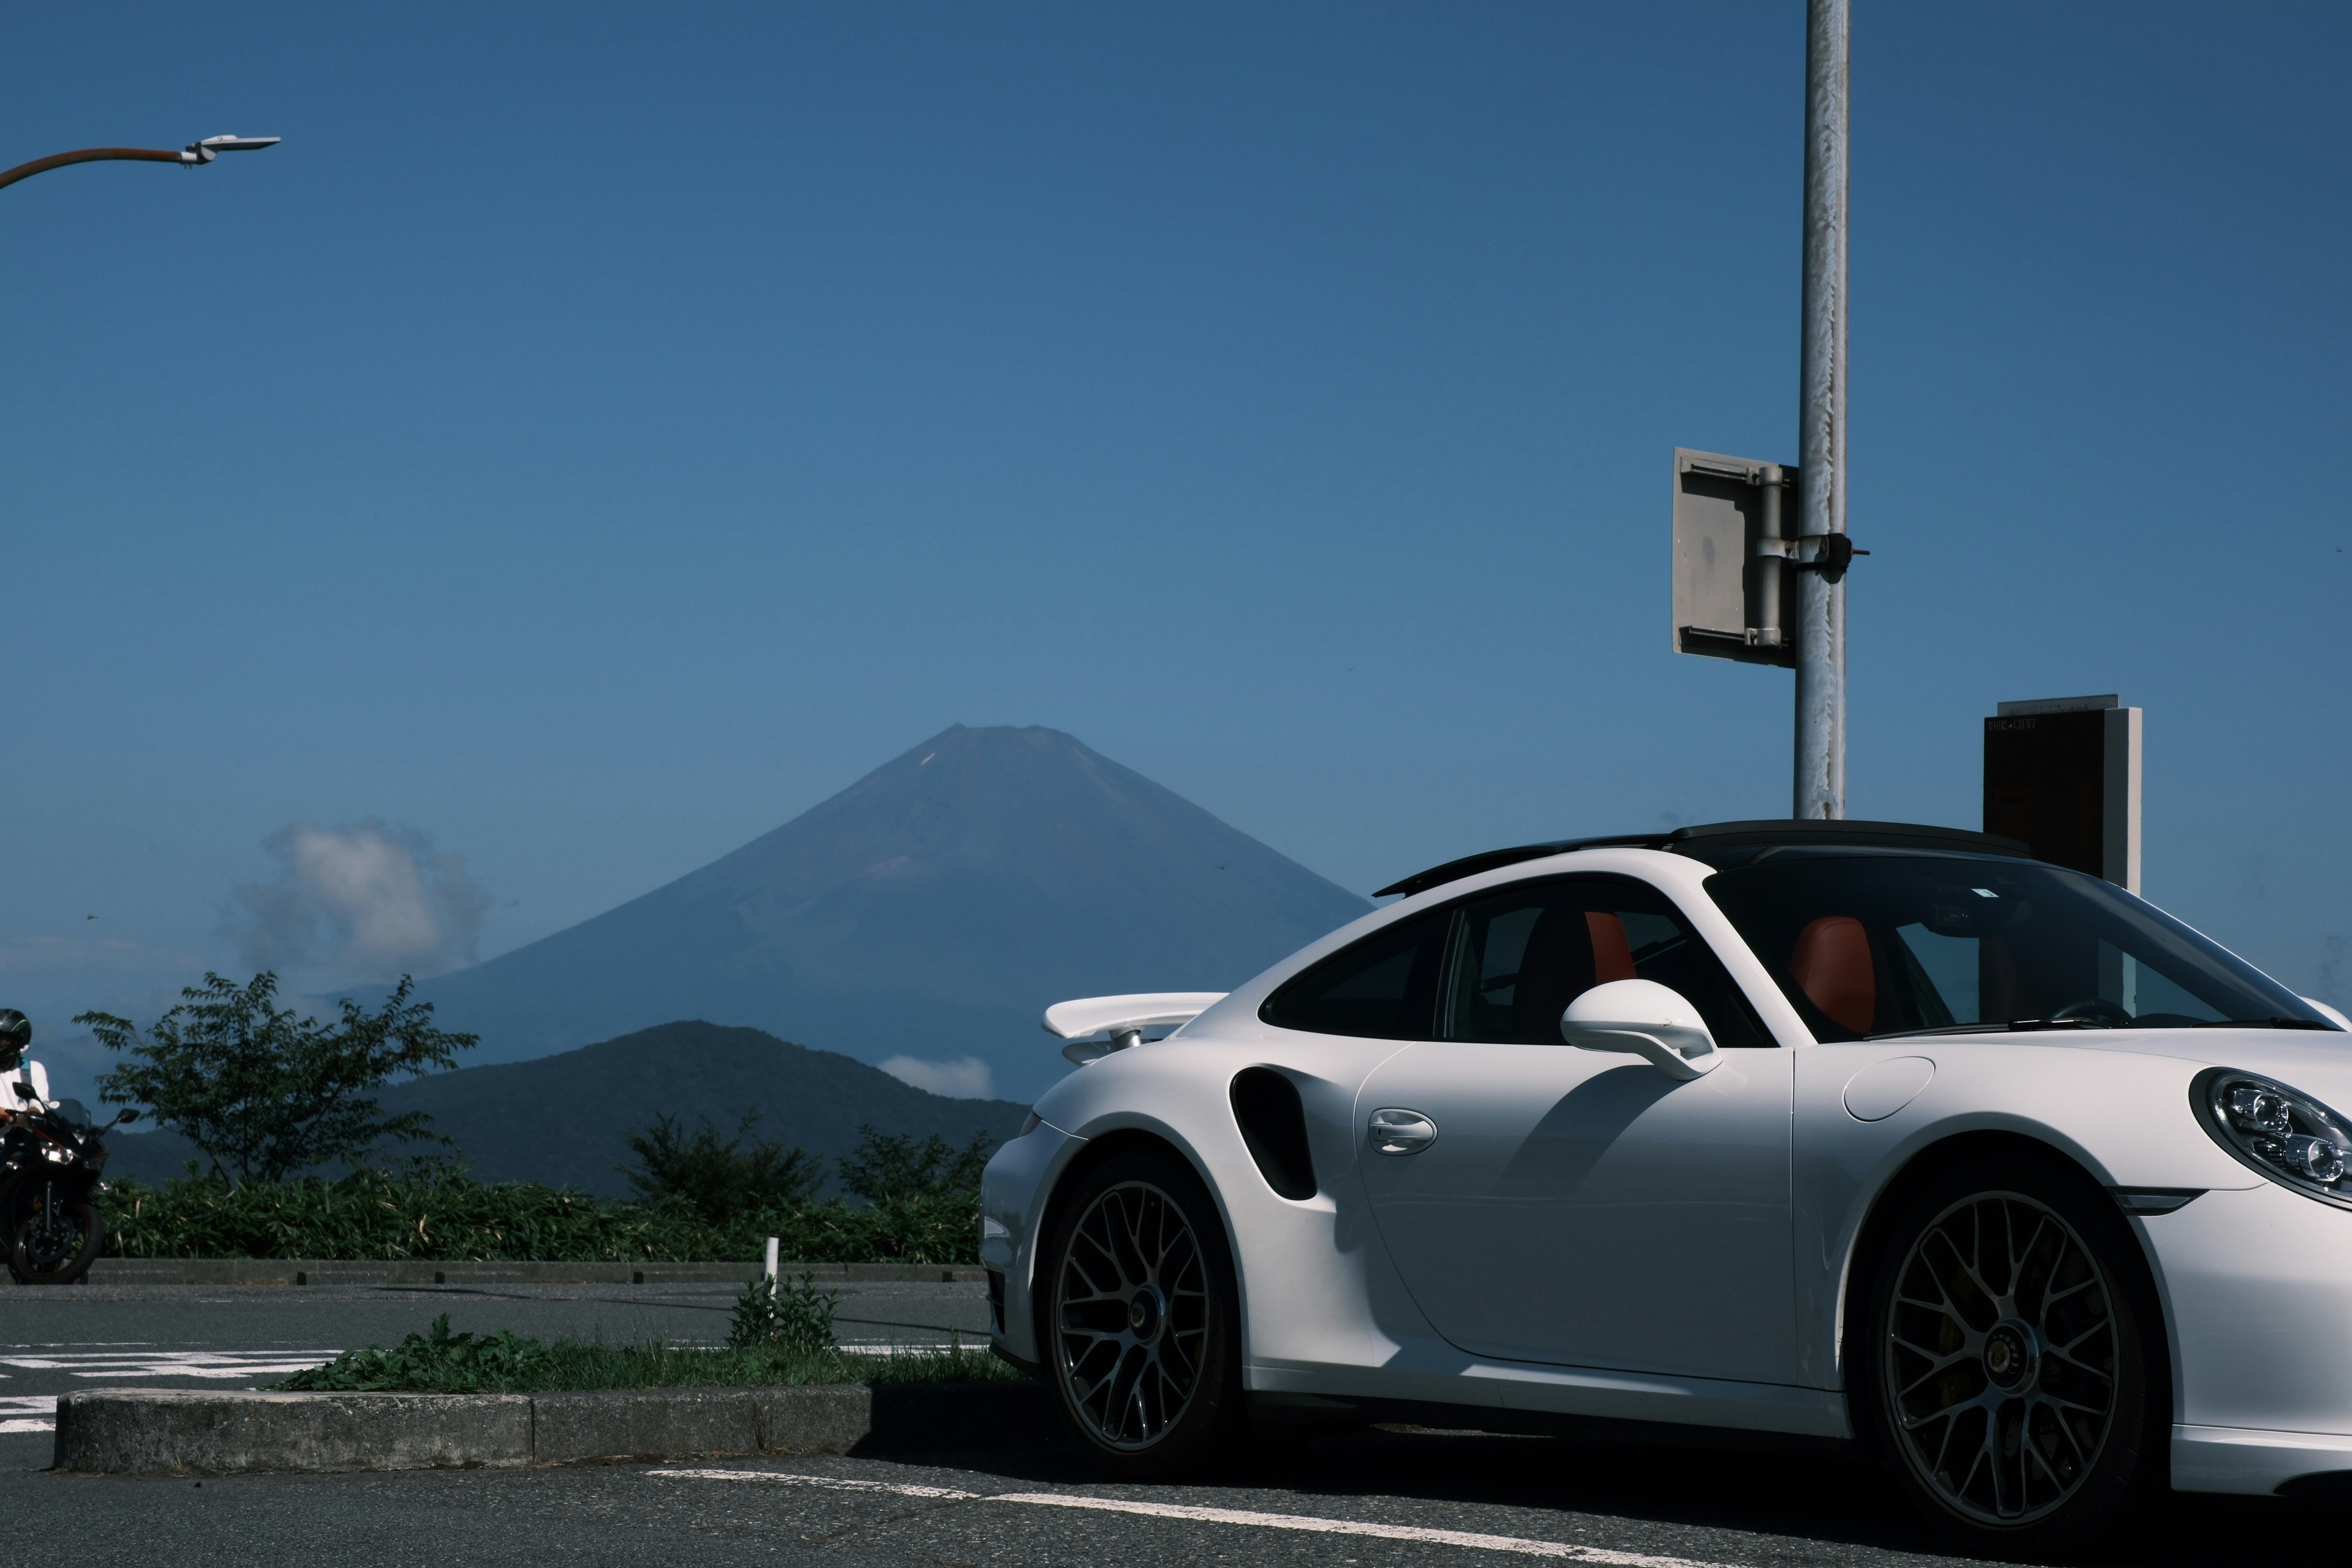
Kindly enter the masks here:
[[346, 1349], [327, 1366], [294, 1373], [280, 1389], [372, 1394], [555, 1394], [588, 1389], [743, 1389], [807, 1382], [1018, 1382], [1021, 1373], [985, 1349], [894, 1349], [854, 1354], [746, 1345], [602, 1345], [524, 1340], [499, 1333], [412, 1333], [390, 1349]]

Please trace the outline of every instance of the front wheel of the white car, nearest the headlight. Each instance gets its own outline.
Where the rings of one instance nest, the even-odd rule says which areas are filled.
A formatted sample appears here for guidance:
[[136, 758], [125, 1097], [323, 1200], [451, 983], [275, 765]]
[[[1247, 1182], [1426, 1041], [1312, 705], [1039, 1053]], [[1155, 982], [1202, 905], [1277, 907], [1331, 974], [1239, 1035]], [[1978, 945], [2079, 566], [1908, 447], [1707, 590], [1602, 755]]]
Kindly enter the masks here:
[[2058, 1157], [1915, 1192], [1863, 1272], [1856, 1432], [1973, 1556], [2112, 1544], [2166, 1486], [2171, 1371], [2138, 1239]]

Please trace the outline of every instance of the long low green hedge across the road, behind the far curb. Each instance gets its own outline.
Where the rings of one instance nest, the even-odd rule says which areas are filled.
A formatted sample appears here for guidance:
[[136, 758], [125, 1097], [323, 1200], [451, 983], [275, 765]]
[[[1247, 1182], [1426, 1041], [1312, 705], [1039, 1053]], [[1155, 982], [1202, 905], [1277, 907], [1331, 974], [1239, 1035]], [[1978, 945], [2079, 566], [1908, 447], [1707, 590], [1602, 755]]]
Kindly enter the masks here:
[[731, 1262], [781, 1237], [795, 1262], [978, 1262], [971, 1192], [753, 1208], [713, 1225], [675, 1201], [616, 1204], [569, 1187], [360, 1171], [230, 1187], [113, 1182], [113, 1258], [447, 1258], [482, 1262]]

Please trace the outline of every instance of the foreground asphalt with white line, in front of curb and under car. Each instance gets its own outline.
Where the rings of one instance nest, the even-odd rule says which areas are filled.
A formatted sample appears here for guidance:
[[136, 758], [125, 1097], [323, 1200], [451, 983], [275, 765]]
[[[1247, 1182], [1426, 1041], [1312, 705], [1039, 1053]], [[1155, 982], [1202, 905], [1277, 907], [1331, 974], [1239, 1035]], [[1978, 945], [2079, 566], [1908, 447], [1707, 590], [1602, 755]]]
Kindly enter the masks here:
[[[35, 1453], [40, 1448], [42, 1453]], [[517, 1472], [186, 1479], [40, 1474], [0, 1436], [0, 1509], [71, 1521], [85, 1563], [1221, 1563], [1898, 1568], [1938, 1556], [1856, 1465], [1564, 1439], [1364, 1432], [1282, 1467], [1120, 1486], [1061, 1450]], [[2183, 1500], [2100, 1561], [2340, 1561], [2338, 1521]]]

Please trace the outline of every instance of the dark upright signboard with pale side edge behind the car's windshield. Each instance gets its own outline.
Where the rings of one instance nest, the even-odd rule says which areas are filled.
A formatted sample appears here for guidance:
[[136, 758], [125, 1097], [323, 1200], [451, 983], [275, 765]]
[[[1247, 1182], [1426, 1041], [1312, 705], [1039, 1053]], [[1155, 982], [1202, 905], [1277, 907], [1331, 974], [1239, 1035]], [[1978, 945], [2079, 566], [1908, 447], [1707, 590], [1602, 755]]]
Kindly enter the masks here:
[[1985, 832], [2140, 891], [2140, 710], [2114, 696], [2002, 703], [1985, 719]]

